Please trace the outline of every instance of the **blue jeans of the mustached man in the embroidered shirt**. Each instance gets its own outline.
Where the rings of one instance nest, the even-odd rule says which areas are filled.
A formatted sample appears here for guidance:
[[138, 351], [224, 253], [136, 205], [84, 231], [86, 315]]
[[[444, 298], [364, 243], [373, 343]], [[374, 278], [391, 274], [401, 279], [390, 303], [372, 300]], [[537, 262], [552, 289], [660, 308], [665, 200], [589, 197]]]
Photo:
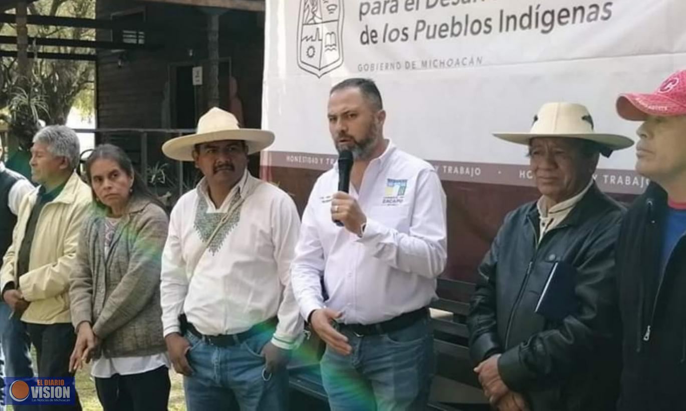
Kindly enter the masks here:
[[191, 333], [187, 353], [193, 375], [184, 377], [186, 407], [189, 411], [241, 411], [288, 409], [288, 372], [285, 367], [269, 375], [265, 372], [262, 348], [272, 338], [267, 331], [241, 345], [215, 347]]

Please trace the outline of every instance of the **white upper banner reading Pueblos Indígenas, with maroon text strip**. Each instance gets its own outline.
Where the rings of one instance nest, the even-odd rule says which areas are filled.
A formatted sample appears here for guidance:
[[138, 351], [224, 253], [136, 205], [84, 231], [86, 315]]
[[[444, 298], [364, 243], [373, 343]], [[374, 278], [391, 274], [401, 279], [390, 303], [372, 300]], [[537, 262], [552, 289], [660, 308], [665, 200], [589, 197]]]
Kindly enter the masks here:
[[[442, 179], [530, 185], [527, 131], [547, 101], [586, 105], [601, 132], [635, 138], [619, 92], [652, 91], [686, 69], [683, 0], [266, 0], [263, 166], [328, 169], [329, 88], [375, 79], [385, 136]], [[611, 192], [641, 192], [633, 149], [601, 160]]]

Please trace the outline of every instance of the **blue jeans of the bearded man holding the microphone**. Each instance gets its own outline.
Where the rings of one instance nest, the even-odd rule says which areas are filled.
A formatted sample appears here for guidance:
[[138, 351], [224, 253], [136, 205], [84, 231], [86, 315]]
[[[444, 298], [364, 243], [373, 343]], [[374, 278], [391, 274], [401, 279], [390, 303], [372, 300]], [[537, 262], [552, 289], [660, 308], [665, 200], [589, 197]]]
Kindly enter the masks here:
[[434, 377], [434, 336], [429, 319], [388, 334], [358, 337], [342, 356], [327, 347], [320, 363], [332, 411], [425, 410]]

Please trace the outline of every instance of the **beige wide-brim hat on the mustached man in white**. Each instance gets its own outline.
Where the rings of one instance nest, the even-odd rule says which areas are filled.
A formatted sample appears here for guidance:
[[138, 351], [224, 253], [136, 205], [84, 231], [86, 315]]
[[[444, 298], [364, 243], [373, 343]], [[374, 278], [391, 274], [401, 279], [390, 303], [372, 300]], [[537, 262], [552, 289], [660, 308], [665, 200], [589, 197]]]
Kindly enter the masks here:
[[174, 160], [193, 161], [193, 147], [221, 140], [243, 140], [248, 145], [248, 154], [252, 154], [272, 145], [274, 133], [241, 128], [233, 114], [214, 107], [200, 117], [196, 134], [168, 140], [162, 145], [162, 152]]

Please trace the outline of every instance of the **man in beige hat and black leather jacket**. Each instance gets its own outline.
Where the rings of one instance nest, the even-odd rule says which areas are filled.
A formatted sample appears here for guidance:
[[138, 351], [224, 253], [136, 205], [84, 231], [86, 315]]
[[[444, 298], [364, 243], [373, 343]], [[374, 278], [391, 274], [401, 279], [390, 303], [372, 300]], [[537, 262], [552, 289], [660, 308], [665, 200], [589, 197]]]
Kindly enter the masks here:
[[624, 209], [595, 186], [599, 154], [632, 145], [595, 134], [582, 105], [547, 103], [530, 133], [538, 201], [510, 212], [479, 267], [471, 358], [499, 410], [611, 410], [617, 399], [613, 249]]

